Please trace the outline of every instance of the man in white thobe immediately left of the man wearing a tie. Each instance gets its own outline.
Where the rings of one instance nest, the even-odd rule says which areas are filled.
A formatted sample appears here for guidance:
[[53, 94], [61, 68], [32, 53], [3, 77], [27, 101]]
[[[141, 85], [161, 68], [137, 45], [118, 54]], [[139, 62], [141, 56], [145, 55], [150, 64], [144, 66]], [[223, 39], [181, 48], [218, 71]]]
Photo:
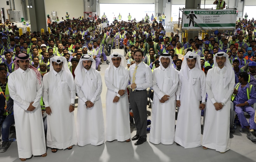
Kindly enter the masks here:
[[110, 55], [111, 61], [105, 71], [106, 94], [106, 140], [130, 142], [129, 101], [127, 86], [129, 71], [124, 67], [125, 57], [117, 52]]

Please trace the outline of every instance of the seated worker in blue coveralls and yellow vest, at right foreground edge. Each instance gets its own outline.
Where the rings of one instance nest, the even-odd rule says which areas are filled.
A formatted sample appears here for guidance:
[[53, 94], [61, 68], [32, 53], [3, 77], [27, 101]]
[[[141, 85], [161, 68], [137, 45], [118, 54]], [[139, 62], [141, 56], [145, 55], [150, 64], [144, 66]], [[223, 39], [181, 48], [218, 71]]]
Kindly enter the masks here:
[[[247, 128], [249, 133], [247, 138], [251, 141], [256, 141], [255, 130], [256, 123], [254, 122], [255, 110], [252, 105], [256, 102], [256, 91], [251, 84], [248, 83], [248, 74], [242, 72], [239, 74], [239, 83], [235, 85], [231, 100], [234, 103], [234, 110], [239, 118], [242, 128]], [[249, 123], [247, 122], [244, 112], [250, 115]]]

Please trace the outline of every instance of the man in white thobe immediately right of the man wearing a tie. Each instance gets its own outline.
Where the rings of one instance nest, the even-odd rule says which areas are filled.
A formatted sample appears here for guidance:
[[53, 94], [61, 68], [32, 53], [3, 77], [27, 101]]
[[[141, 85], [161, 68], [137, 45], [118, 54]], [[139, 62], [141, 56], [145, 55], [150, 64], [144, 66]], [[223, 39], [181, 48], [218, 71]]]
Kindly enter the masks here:
[[[179, 74], [172, 65], [171, 54], [163, 53], [160, 67], [153, 71], [154, 98], [149, 141], [171, 145], [175, 134], [176, 95]], [[168, 129], [166, 129], [168, 128]]]

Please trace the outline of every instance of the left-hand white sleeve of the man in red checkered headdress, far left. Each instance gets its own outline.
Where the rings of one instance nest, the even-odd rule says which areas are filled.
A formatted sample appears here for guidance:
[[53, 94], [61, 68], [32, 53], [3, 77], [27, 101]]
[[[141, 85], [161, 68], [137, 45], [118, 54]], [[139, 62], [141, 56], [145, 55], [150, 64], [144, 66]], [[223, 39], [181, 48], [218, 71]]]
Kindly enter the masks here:
[[29, 108], [30, 103], [21, 99], [17, 94], [16, 94], [16, 87], [14, 84], [15, 78], [13, 75], [9, 76], [8, 80], [8, 88], [9, 88], [9, 93], [11, 98], [15, 101], [15, 103], [21, 107], [24, 110], [27, 110]]

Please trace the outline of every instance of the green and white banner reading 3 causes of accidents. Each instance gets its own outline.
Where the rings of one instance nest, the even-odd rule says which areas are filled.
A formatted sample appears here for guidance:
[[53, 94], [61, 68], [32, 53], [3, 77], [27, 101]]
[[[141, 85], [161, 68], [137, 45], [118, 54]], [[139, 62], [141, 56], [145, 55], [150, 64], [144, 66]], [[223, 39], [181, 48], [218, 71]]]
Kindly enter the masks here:
[[182, 28], [185, 30], [235, 29], [236, 10], [184, 9]]

